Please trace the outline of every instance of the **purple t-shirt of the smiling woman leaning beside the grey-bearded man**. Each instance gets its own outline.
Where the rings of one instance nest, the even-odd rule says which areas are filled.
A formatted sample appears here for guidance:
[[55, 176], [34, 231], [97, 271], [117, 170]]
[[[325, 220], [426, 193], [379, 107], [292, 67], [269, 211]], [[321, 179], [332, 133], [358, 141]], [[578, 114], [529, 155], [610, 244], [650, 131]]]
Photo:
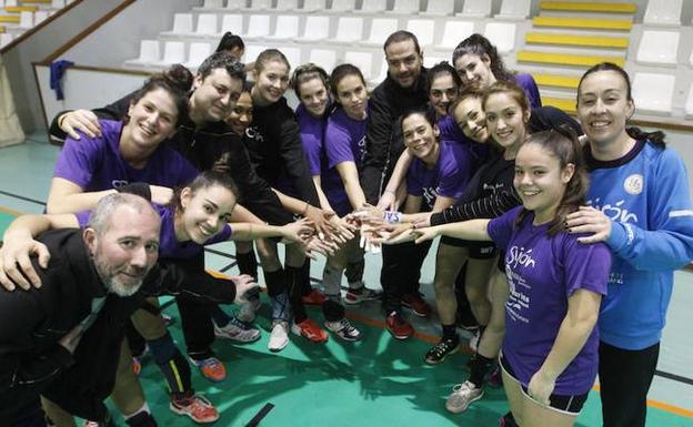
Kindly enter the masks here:
[[[213, 243], [225, 242], [231, 237], [231, 226], [224, 224], [224, 227], [210, 237], [203, 245], [197, 244], [193, 241], [179, 243], [175, 238], [175, 224], [173, 209], [170, 206], [161, 206], [153, 204], [153, 207], [161, 216], [161, 232], [159, 233], [159, 258], [177, 258], [185, 260], [190, 258], [202, 252], [205, 245]], [[80, 227], [84, 227], [89, 223], [89, 216], [91, 211], [83, 211], [76, 214], [77, 221]]]

